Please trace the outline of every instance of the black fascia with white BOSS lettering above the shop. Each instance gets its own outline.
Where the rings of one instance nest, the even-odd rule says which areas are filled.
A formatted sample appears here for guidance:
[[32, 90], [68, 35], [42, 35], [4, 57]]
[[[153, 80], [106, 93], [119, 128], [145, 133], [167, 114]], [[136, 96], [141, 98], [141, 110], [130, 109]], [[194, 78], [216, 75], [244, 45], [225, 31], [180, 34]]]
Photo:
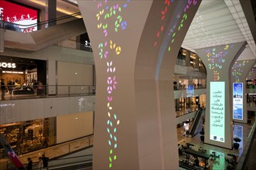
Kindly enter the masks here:
[[18, 57], [12, 57], [12, 56], [0, 56], [0, 63], [15, 63], [16, 65], [15, 69], [0, 67], [0, 70], [25, 71], [25, 70], [32, 70], [37, 68], [37, 64], [39, 63], [39, 60], [18, 58]]

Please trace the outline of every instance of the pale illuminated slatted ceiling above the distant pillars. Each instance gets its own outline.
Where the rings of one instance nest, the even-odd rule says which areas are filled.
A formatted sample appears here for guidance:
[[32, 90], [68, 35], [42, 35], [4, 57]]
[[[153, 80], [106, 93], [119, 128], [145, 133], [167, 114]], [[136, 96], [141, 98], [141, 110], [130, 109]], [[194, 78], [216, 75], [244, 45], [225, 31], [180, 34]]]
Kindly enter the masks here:
[[237, 60], [256, 59], [254, 38], [239, 0], [203, 0], [182, 47], [195, 51], [245, 41], [246, 49]]

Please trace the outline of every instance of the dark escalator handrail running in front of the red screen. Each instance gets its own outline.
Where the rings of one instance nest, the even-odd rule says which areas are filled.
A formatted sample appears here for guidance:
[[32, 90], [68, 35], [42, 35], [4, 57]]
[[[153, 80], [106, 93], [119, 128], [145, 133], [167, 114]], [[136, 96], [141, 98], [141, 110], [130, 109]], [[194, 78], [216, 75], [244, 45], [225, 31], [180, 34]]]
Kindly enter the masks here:
[[8, 24], [12, 24], [12, 25], [15, 25], [15, 26], [24, 26], [24, 27], [26, 26], [26, 29], [29, 29], [33, 26], [43, 26], [43, 25], [46, 25], [46, 24], [51, 23], [51, 22], [56, 22], [56, 21], [60, 21], [60, 20], [63, 20], [63, 19], [69, 19], [69, 18], [75, 17], [75, 16], [80, 15], [80, 14], [81, 14], [80, 12], [75, 12], [75, 13], [70, 14], [70, 15], [63, 15], [63, 16], [60, 16], [60, 17], [55, 18], [55, 19], [49, 19], [49, 20], [46, 20], [46, 21], [43, 21], [43, 22], [37, 22], [37, 23], [34, 23], [34, 24], [29, 24], [29, 25], [22, 25], [22, 24], [16, 24], [16, 23], [5, 22], [5, 21], [3, 21], [3, 22], [8, 23]]

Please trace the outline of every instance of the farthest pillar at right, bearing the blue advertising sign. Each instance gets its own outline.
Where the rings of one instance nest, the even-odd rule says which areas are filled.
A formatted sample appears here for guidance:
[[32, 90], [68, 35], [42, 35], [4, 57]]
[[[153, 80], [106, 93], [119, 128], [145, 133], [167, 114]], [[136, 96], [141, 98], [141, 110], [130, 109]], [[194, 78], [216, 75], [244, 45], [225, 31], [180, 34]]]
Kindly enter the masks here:
[[247, 124], [246, 76], [254, 66], [255, 59], [236, 61], [232, 66], [233, 120]]

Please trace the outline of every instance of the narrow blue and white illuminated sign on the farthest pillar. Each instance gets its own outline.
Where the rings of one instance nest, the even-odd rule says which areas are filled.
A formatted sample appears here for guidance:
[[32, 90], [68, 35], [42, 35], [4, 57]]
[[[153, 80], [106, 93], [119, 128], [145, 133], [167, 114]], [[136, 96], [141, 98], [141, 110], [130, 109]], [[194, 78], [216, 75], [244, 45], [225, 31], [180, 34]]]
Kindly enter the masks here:
[[233, 119], [243, 120], [243, 83], [233, 83]]

